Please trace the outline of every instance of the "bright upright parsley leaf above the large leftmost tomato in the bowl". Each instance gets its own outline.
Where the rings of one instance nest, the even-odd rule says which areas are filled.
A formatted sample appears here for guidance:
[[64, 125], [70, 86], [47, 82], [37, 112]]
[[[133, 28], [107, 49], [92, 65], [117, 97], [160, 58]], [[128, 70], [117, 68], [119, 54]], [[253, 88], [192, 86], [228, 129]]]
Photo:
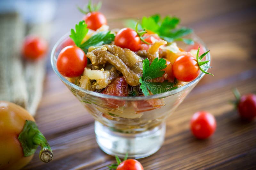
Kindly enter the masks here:
[[76, 31], [71, 29], [69, 37], [75, 42], [76, 46], [80, 47], [82, 40], [88, 32], [87, 25], [84, 21], [80, 21], [79, 24], [76, 24]]

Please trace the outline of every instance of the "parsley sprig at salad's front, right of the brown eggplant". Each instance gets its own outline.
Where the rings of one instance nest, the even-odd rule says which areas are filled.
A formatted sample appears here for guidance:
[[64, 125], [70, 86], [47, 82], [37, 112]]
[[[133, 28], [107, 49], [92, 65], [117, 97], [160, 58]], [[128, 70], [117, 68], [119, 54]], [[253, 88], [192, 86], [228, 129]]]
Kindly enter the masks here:
[[[149, 60], [146, 58], [142, 61], [142, 77], [140, 77], [140, 89], [145, 96], [149, 96], [149, 91], [156, 95], [160, 93], [164, 93], [167, 91], [171, 91], [173, 89], [177, 89], [178, 87], [173, 87], [174, 84], [168, 81], [164, 82], [152, 82], [153, 79], [162, 77], [164, 74], [163, 69], [166, 67], [166, 60], [163, 58], [156, 58], [149, 65]], [[148, 91], [149, 90], [149, 91]]]

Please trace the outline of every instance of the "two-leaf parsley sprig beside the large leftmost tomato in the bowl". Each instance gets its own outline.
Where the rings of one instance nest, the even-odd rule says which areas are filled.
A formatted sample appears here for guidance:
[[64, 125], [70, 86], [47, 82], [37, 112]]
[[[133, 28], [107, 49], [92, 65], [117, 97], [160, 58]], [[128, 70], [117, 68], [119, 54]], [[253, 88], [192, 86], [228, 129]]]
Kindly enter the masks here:
[[76, 24], [75, 30], [71, 29], [69, 37], [75, 42], [76, 46], [84, 50], [85, 53], [88, 52], [90, 46], [110, 44], [115, 39], [115, 35], [110, 31], [102, 31], [94, 34], [82, 44], [84, 37], [89, 31], [87, 25], [84, 21], [80, 21], [79, 24]]

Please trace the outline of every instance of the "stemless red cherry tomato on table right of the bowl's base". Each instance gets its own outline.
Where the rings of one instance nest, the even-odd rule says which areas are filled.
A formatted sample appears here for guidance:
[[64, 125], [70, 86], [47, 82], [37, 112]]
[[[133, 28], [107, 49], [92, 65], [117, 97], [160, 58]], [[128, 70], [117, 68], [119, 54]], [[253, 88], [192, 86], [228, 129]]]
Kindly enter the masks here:
[[216, 121], [212, 114], [206, 111], [199, 111], [193, 115], [190, 121], [190, 128], [196, 138], [205, 139], [214, 133]]

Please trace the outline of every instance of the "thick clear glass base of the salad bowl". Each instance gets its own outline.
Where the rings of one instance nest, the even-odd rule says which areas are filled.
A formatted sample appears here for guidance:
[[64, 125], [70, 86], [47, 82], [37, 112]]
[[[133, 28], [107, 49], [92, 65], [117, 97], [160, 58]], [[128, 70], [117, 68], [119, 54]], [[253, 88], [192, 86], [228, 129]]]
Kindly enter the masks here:
[[165, 123], [136, 134], [112, 131], [98, 121], [95, 121], [96, 141], [100, 149], [112, 156], [124, 158], [145, 158], [157, 152], [164, 142]]

